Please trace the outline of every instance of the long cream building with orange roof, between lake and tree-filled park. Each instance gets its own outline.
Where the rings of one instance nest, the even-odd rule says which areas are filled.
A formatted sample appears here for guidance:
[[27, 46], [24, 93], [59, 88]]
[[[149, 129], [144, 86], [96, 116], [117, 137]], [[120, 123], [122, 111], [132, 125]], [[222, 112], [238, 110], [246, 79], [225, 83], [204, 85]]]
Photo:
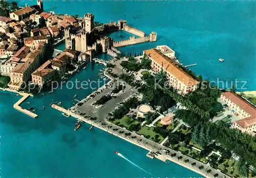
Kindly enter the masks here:
[[143, 54], [146, 54], [152, 60], [152, 70], [156, 72], [163, 70], [166, 72], [169, 84], [181, 94], [187, 94], [197, 89], [199, 81], [187, 74], [175, 61], [168, 58], [157, 49], [145, 50]]

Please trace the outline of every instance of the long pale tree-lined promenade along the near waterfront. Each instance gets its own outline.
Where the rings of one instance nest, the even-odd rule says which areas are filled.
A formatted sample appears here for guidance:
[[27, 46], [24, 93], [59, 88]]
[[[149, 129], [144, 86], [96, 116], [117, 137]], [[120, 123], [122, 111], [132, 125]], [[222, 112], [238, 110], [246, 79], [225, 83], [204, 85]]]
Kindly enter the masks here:
[[[178, 151], [172, 150], [168, 147], [165, 147], [165, 146], [158, 144], [156, 142], [153, 142], [151, 140], [145, 139], [143, 136], [138, 135], [136, 132], [131, 132], [129, 130], [126, 130], [125, 128], [119, 127], [115, 124], [112, 124], [111, 122], [106, 121], [106, 120], [93, 121], [88, 118], [84, 118], [78, 114], [75, 114], [75, 113], [71, 112], [71, 110], [65, 109], [65, 108], [57, 106], [55, 104], [53, 104], [52, 107], [59, 110], [62, 113], [71, 115], [72, 117], [74, 117], [80, 121], [86, 122], [90, 125], [93, 125], [94, 127], [104, 130], [118, 138], [121, 138], [127, 142], [130, 142], [130, 143], [135, 144], [141, 148], [144, 148], [145, 150], [148, 150], [151, 152], [159, 151], [159, 152], [161, 152], [161, 154], [155, 154], [155, 158], [157, 158], [163, 162], [166, 162], [167, 160], [172, 161], [173, 163], [179, 164], [187, 169], [197, 172], [204, 177], [214, 177], [214, 175], [216, 173], [218, 173], [218, 177], [229, 177], [229, 176], [225, 175], [224, 173], [222, 173], [220, 170], [211, 168], [209, 166], [209, 164], [204, 164], [200, 161], [194, 160], [194, 159], [188, 157], [187, 155], [184, 155]], [[125, 136], [125, 133], [131, 133], [131, 135]], [[165, 154], [162, 151], [162, 149], [169, 150], [170, 151], [169, 154]], [[170, 156], [173, 153], [176, 153], [175, 157]], [[178, 159], [178, 157], [182, 157], [182, 159]], [[185, 160], [188, 160], [188, 162], [185, 163], [184, 162]], [[192, 166], [191, 163], [196, 163], [196, 165]], [[200, 166], [203, 166], [203, 169], [199, 169]], [[206, 171], [208, 169], [211, 169], [211, 172], [207, 173]]]

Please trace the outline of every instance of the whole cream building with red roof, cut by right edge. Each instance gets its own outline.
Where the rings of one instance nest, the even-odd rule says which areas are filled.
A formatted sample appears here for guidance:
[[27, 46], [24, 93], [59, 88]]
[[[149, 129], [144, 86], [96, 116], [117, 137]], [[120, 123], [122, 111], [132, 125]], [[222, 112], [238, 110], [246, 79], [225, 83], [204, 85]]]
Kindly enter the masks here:
[[221, 94], [223, 100], [241, 119], [232, 123], [233, 128], [237, 128], [242, 132], [256, 131], [256, 107], [248, 103], [246, 100], [233, 92], [224, 92]]

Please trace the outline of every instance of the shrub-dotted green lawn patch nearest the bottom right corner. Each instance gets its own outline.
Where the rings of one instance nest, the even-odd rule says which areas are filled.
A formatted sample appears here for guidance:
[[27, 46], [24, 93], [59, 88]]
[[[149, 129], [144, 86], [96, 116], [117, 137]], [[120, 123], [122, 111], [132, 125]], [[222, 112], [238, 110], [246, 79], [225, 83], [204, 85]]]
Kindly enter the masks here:
[[[233, 159], [230, 159], [230, 160], [225, 160], [224, 163], [220, 164], [218, 166], [219, 169], [221, 169], [222, 171], [225, 169], [225, 164], [228, 165], [228, 167], [226, 168], [227, 169], [227, 172], [226, 174], [230, 177], [234, 177], [234, 175], [238, 174], [238, 162], [233, 160]], [[234, 165], [233, 165], [234, 164]], [[233, 165], [233, 166], [232, 166]], [[233, 172], [232, 172], [233, 171]], [[239, 177], [242, 177], [242, 176], [239, 176]]]

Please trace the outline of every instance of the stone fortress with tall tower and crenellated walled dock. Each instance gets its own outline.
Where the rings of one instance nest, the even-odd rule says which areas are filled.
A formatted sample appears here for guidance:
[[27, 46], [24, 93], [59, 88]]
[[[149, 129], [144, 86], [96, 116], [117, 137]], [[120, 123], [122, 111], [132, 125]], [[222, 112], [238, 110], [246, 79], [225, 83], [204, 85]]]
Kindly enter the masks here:
[[[65, 29], [66, 49], [88, 54], [91, 58], [100, 52], [115, 57], [120, 53], [117, 49], [118, 47], [157, 40], [156, 32], [151, 32], [150, 35], [146, 36], [144, 31], [131, 27], [126, 23], [126, 20], [118, 20], [117, 24], [112, 21], [102, 26], [94, 27], [94, 15], [87, 13], [83, 18], [78, 18], [77, 26]], [[129, 39], [114, 41], [112, 38], [105, 36], [107, 33], [118, 30], [129, 32], [138, 37], [130, 36]]]

